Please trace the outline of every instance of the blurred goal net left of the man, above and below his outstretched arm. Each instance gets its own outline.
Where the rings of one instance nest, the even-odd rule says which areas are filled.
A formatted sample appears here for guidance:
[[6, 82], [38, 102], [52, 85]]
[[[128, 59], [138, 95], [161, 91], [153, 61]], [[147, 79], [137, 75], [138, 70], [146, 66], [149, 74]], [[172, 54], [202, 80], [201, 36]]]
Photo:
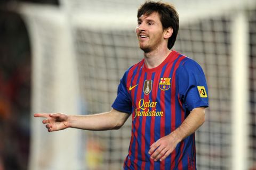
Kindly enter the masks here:
[[[130, 30], [75, 30], [76, 56], [81, 93], [88, 113], [111, 109], [117, 85], [125, 70], [142, 56], [134, 31]], [[120, 169], [127, 155], [131, 137], [131, 118], [118, 131], [94, 132], [103, 144], [102, 166]], [[99, 153], [99, 155], [102, 153]], [[90, 155], [90, 152], [87, 153]]]

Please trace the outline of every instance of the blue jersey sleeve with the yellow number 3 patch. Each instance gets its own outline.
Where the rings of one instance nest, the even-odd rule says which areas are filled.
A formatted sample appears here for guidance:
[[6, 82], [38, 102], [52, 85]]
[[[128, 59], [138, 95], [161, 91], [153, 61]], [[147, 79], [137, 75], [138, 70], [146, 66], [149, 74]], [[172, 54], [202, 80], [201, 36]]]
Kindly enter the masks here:
[[192, 111], [196, 107], [209, 107], [208, 88], [203, 69], [188, 58], [177, 70], [179, 98]]

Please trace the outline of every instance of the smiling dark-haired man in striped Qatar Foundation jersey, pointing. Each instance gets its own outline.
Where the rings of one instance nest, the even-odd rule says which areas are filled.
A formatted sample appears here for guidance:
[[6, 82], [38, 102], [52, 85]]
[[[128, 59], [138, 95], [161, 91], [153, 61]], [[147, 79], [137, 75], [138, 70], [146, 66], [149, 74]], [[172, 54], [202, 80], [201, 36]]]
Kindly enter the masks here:
[[124, 169], [196, 169], [195, 131], [204, 123], [207, 85], [201, 67], [170, 50], [179, 29], [174, 7], [146, 2], [136, 33], [144, 59], [121, 79], [106, 113], [35, 114], [49, 132], [66, 128], [119, 129], [132, 114], [132, 137]]

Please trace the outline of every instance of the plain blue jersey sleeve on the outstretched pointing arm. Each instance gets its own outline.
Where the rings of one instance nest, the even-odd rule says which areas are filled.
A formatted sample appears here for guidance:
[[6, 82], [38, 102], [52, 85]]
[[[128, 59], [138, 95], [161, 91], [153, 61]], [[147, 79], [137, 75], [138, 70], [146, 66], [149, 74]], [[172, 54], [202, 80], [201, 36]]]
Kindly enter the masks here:
[[120, 80], [118, 89], [117, 89], [117, 97], [112, 105], [114, 109], [124, 113], [132, 113], [132, 101], [131, 97], [129, 97], [129, 93], [126, 89], [126, 78], [127, 73], [124, 74], [123, 78]]

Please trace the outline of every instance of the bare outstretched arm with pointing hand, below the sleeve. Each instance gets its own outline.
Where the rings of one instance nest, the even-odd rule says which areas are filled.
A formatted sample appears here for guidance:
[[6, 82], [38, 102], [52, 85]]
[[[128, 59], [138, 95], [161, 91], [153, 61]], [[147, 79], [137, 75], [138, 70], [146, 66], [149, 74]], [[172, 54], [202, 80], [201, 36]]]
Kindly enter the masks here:
[[103, 131], [119, 129], [125, 123], [129, 114], [112, 109], [106, 113], [93, 115], [66, 115], [54, 114], [34, 114], [34, 117], [45, 117], [43, 124], [49, 132], [63, 130], [66, 128], [78, 128], [84, 130]]

